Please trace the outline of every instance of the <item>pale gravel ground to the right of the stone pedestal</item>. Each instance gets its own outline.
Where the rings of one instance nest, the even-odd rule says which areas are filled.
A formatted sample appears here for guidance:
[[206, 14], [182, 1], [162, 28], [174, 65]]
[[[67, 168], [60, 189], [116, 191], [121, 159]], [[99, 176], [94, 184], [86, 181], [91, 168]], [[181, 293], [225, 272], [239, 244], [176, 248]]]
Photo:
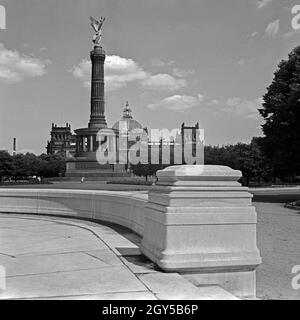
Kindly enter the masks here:
[[262, 265], [257, 269], [257, 297], [297, 299], [291, 286], [294, 265], [300, 265], [300, 212], [278, 203], [254, 203], [258, 213], [257, 241]]

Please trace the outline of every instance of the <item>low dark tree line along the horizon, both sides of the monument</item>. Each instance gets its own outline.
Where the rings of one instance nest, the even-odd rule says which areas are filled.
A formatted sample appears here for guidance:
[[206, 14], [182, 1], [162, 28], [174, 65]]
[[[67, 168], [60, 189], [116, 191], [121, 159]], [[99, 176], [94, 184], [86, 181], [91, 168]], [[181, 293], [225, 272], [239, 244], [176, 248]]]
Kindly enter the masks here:
[[[248, 185], [269, 182], [276, 178], [272, 167], [265, 158], [261, 144], [262, 138], [253, 138], [251, 143], [237, 143], [226, 146], [205, 146], [205, 164], [224, 165], [240, 170], [243, 174], [242, 182]], [[172, 164], [171, 164], [172, 165]], [[131, 170], [137, 176], [146, 178], [155, 176], [157, 170], [168, 165], [138, 164], [132, 165]], [[32, 177], [60, 177], [66, 171], [66, 159], [61, 155], [36, 156], [32, 153], [10, 155], [0, 151], [0, 181], [26, 180]]]

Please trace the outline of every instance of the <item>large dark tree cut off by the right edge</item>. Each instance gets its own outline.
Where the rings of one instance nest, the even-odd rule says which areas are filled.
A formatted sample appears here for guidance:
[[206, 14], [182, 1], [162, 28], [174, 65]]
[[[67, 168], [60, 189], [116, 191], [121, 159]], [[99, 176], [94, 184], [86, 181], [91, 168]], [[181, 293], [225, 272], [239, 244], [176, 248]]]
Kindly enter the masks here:
[[274, 176], [293, 180], [300, 174], [300, 46], [279, 63], [263, 97], [260, 114], [263, 152]]

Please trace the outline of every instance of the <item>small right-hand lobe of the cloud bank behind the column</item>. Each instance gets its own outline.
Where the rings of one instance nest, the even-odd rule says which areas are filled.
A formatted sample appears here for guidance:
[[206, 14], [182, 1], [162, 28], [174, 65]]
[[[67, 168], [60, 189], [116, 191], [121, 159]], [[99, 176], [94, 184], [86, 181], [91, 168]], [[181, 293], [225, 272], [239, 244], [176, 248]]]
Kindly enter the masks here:
[[165, 73], [149, 75], [142, 85], [145, 89], [150, 90], [178, 90], [187, 86], [185, 79], [176, 79]]

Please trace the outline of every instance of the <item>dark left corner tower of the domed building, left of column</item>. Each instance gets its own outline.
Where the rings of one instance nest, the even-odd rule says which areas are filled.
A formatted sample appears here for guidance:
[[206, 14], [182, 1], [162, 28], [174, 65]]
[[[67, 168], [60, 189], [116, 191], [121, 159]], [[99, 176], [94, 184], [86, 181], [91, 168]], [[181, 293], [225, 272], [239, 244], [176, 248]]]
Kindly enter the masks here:
[[72, 157], [76, 152], [76, 136], [72, 134], [71, 125], [58, 127], [52, 123], [51, 140], [47, 142], [47, 154], [60, 154], [66, 158]]

